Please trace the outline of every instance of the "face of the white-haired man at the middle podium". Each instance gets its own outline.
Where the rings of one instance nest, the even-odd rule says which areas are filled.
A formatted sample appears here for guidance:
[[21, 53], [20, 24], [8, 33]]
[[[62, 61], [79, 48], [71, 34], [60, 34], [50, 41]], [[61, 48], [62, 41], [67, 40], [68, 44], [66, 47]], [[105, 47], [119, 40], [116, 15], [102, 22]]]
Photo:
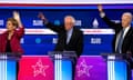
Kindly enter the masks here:
[[65, 27], [65, 30], [70, 30], [71, 28], [74, 27], [74, 22], [73, 22], [73, 18], [71, 17], [65, 17], [64, 18], [64, 27]]

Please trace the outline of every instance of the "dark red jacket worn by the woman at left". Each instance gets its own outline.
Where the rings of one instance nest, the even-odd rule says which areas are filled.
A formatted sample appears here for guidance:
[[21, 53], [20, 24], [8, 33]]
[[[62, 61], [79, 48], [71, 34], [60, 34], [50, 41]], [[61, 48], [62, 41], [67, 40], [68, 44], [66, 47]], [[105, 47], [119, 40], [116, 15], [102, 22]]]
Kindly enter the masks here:
[[[14, 30], [14, 33], [10, 40], [11, 51], [14, 53], [23, 53], [23, 50], [20, 44], [20, 39], [24, 34], [24, 28]], [[0, 34], [0, 52], [6, 52], [6, 46], [8, 40], [8, 31]]]

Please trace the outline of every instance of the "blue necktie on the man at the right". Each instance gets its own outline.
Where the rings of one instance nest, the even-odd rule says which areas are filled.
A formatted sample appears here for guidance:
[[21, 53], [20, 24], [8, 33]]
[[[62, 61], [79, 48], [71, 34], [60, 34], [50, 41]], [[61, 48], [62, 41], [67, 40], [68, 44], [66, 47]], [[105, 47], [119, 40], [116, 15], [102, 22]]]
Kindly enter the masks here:
[[116, 47], [116, 52], [121, 53], [121, 49], [122, 49], [122, 43], [123, 43], [123, 34], [124, 34], [124, 29], [122, 29], [121, 33], [120, 33], [120, 38], [117, 40], [117, 47]]

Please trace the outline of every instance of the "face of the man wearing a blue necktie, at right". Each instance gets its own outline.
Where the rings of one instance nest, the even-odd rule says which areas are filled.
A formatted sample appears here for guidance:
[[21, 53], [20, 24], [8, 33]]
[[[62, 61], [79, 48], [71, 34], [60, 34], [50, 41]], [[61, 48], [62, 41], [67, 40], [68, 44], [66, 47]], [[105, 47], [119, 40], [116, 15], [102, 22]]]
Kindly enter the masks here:
[[122, 16], [122, 27], [126, 28], [131, 24], [132, 18], [129, 14], [123, 14]]

